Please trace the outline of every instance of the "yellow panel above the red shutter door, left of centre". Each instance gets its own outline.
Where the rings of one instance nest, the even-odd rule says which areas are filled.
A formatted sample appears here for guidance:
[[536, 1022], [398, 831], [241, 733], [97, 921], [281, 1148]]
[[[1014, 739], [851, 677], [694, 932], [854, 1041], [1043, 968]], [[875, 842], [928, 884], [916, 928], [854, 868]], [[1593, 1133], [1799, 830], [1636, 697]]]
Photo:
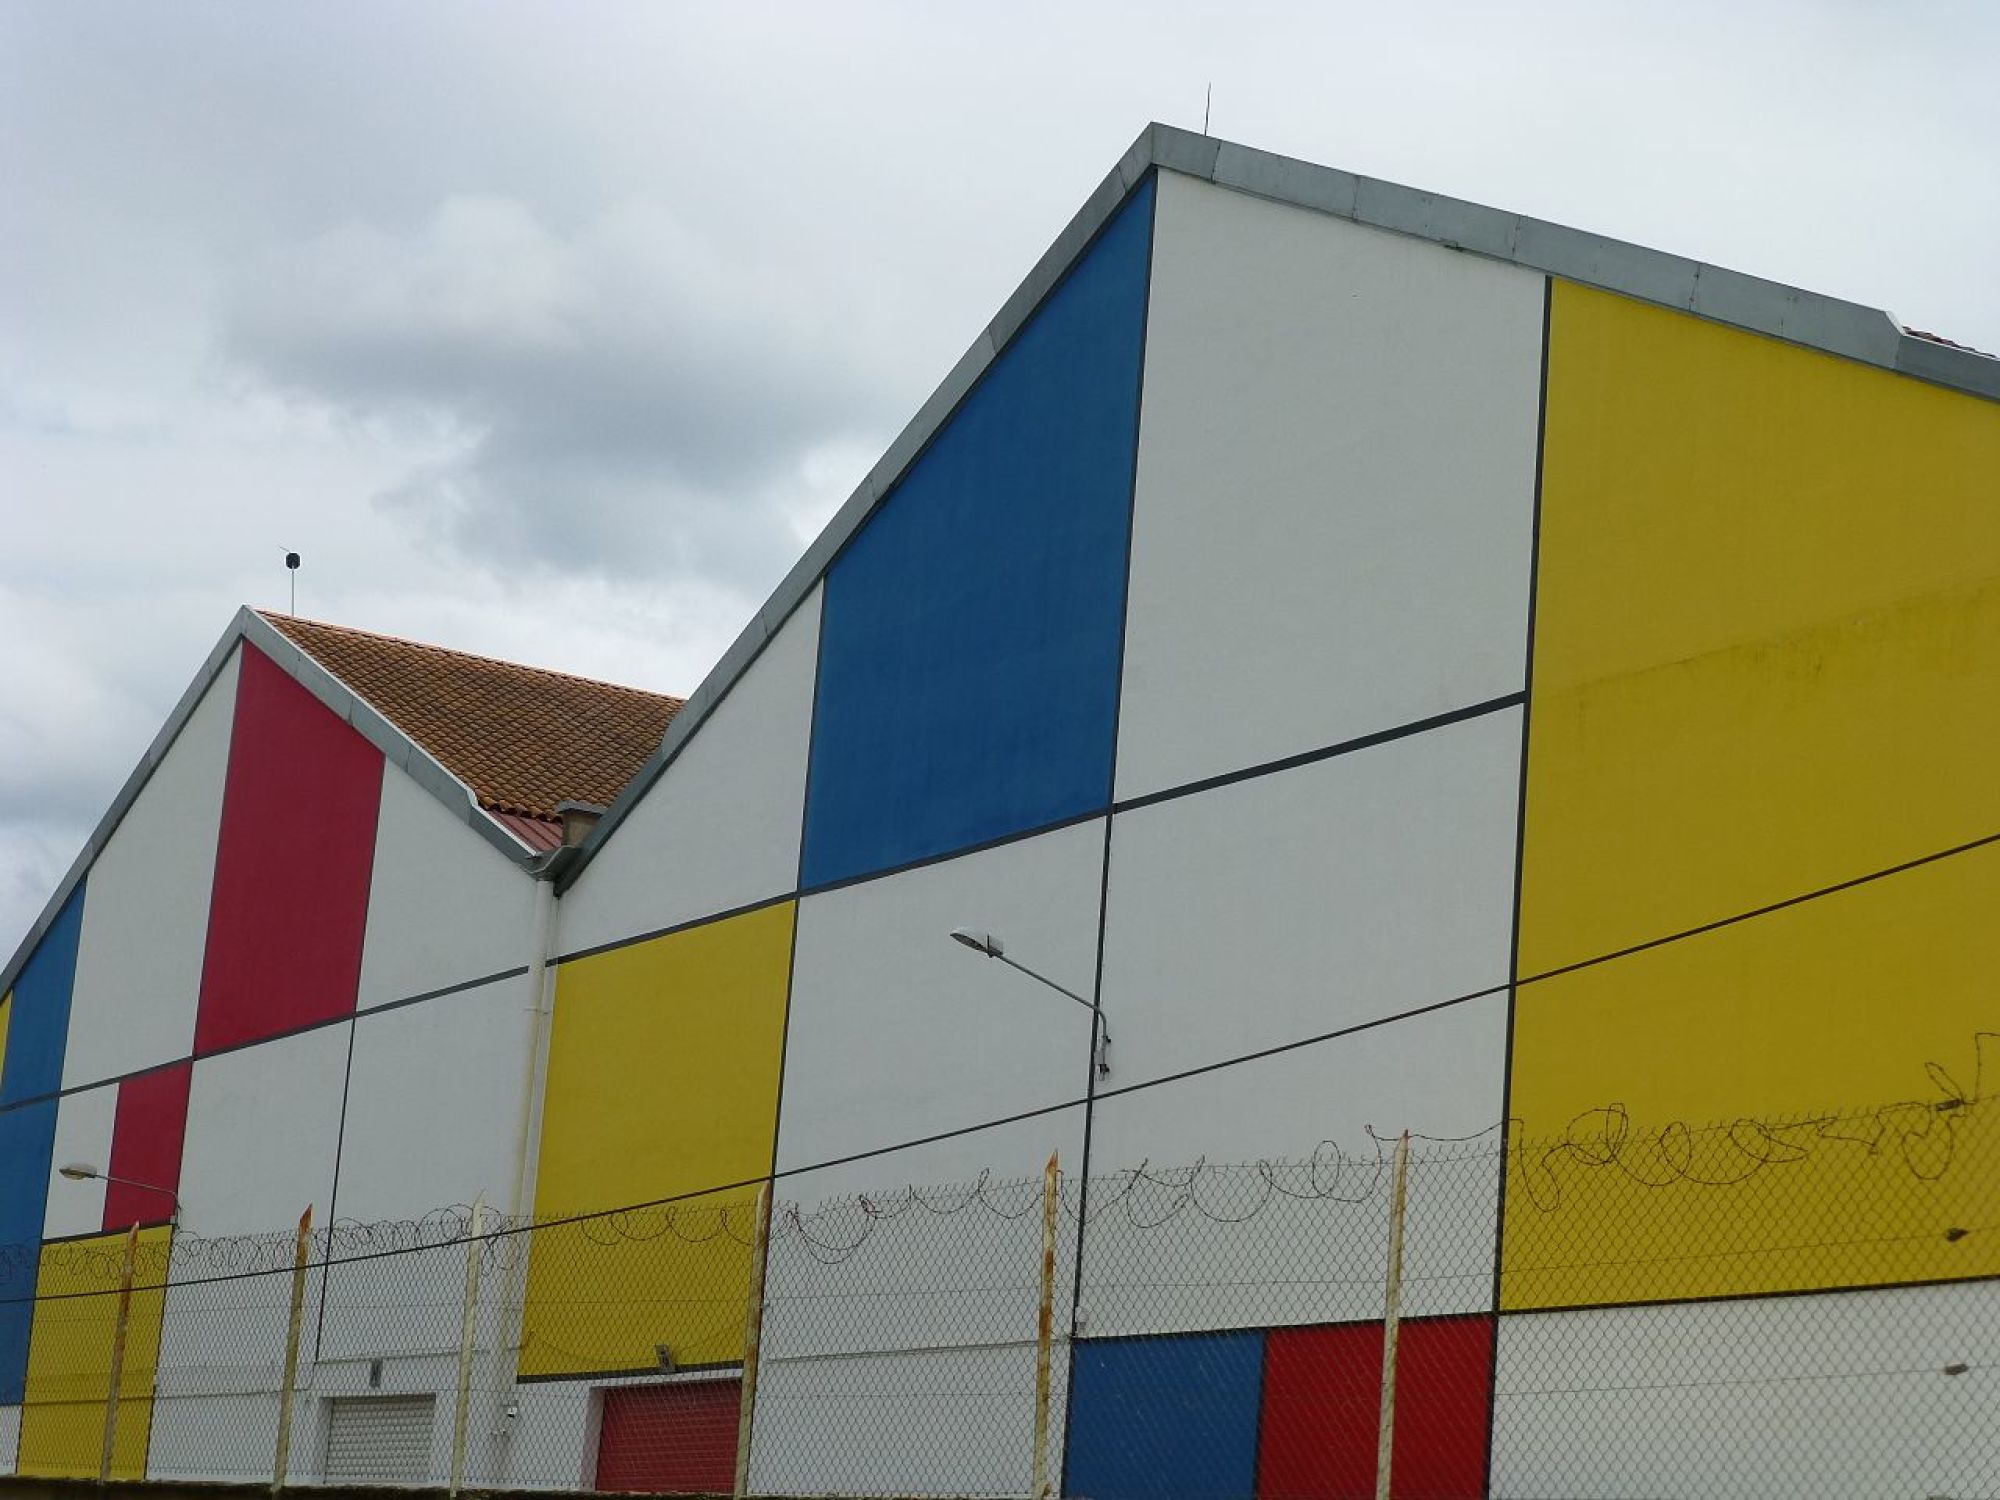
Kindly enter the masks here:
[[[770, 1172], [790, 902], [564, 964], [536, 1216]], [[540, 1230], [524, 1376], [742, 1358], [754, 1188]]]

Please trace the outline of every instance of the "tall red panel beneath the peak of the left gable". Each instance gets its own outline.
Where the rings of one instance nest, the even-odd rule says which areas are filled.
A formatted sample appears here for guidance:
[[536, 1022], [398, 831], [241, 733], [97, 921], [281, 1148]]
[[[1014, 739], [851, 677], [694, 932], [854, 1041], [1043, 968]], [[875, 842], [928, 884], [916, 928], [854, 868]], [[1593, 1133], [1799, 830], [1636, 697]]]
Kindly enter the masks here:
[[242, 648], [196, 1054], [354, 1012], [382, 754]]

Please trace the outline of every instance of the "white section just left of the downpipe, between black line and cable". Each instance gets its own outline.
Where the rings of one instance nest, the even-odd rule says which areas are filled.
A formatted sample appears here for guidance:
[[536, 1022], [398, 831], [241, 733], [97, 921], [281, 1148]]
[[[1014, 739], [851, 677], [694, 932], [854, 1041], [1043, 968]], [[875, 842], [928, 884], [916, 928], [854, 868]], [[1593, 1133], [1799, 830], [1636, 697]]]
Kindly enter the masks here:
[[508, 1212], [530, 1024], [526, 976], [354, 1022], [340, 1218], [420, 1218], [480, 1194]]

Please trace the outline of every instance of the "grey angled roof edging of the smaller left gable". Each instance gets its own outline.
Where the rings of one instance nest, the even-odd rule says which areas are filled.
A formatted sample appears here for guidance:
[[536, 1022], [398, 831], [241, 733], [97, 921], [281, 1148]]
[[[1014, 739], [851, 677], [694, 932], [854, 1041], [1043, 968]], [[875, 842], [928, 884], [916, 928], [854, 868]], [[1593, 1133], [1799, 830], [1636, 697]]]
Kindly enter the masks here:
[[152, 780], [160, 762], [166, 760], [166, 752], [174, 746], [174, 740], [180, 738], [180, 730], [186, 726], [188, 718], [194, 716], [202, 696], [214, 684], [216, 676], [222, 672], [236, 648], [244, 642], [264, 652], [282, 672], [338, 714], [340, 720], [354, 728], [354, 732], [368, 740], [368, 744], [380, 750], [392, 766], [406, 772], [454, 818], [472, 828], [472, 832], [500, 850], [500, 854], [504, 854], [510, 862], [518, 864], [528, 874], [540, 874], [540, 870], [548, 864], [548, 850], [530, 848], [486, 816], [486, 810], [478, 804], [470, 786], [452, 776], [452, 772], [440, 766], [428, 750], [396, 728], [392, 720], [376, 712], [346, 682], [320, 666], [312, 656], [280, 634], [276, 626], [264, 620], [262, 614], [244, 604], [236, 610], [236, 618], [230, 620], [222, 638], [210, 648], [208, 658], [196, 670], [186, 692], [180, 694], [180, 702], [176, 702], [174, 712], [166, 716], [166, 724], [162, 724], [160, 732], [152, 736], [152, 744], [146, 746], [146, 754], [140, 756], [138, 766], [132, 768], [124, 786], [118, 788], [118, 796], [112, 798], [110, 808], [104, 810], [96, 828], [90, 830], [90, 838], [84, 840], [84, 848], [70, 862], [62, 880], [56, 882], [56, 892], [42, 906], [42, 914], [28, 926], [28, 932], [14, 948], [14, 956], [8, 958], [6, 968], [0, 968], [0, 994], [14, 988], [14, 980], [20, 978], [22, 968], [28, 966], [28, 958], [34, 956], [36, 946], [40, 946], [42, 938], [48, 934], [56, 914], [62, 912], [64, 902], [70, 900], [76, 886], [80, 886], [84, 876], [90, 874], [90, 866], [96, 864], [104, 846], [112, 842], [112, 834], [118, 832], [118, 824], [124, 822], [126, 812], [132, 810], [140, 792], [146, 790], [146, 782]]

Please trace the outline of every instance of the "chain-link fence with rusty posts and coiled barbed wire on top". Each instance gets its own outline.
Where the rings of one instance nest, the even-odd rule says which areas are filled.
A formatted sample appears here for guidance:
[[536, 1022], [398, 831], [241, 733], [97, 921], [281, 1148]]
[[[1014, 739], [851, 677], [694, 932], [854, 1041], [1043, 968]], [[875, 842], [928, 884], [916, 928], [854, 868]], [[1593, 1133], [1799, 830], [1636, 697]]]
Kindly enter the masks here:
[[1554, 1138], [812, 1206], [780, 1182], [776, 1204], [536, 1226], [50, 1244], [16, 1462], [706, 1494], [2000, 1496], [1996, 1118], [1600, 1110]]

